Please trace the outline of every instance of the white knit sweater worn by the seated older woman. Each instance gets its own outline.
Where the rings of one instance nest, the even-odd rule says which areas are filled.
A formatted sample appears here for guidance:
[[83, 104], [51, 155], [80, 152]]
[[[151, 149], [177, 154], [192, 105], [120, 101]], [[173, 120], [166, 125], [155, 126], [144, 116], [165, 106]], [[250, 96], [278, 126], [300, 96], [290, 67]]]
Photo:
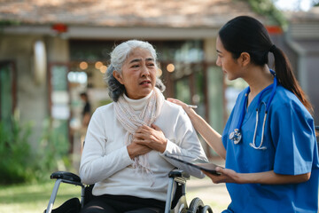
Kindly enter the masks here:
[[[144, 99], [128, 99], [138, 113], [144, 106]], [[167, 138], [163, 154], [149, 153], [152, 175], [142, 174], [132, 168], [132, 160], [125, 146], [125, 130], [117, 121], [113, 103], [100, 106], [89, 122], [85, 146], [82, 152], [80, 177], [86, 185], [95, 184], [94, 195], [134, 195], [141, 198], [166, 200], [168, 173], [175, 167], [195, 177], [203, 173], [183, 163], [167, 159], [164, 154], [189, 156], [185, 161], [206, 160], [206, 155], [191, 121], [181, 106], [164, 101], [161, 113], [154, 122]], [[151, 177], [152, 176], [152, 177]]]

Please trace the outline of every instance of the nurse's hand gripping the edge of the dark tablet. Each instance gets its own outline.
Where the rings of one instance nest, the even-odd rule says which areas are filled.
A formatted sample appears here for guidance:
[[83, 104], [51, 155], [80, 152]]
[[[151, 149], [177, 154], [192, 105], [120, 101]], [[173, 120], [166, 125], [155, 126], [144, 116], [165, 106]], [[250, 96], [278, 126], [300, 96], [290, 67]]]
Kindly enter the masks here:
[[213, 175], [211, 173], [208, 173], [204, 170], [202, 170], [204, 174], [206, 174], [207, 177], [211, 178], [214, 184], [220, 184], [220, 183], [241, 183], [241, 177], [240, 174], [237, 173], [234, 170], [229, 169], [222, 169], [221, 167], [217, 167], [216, 171], [221, 173], [220, 176]]

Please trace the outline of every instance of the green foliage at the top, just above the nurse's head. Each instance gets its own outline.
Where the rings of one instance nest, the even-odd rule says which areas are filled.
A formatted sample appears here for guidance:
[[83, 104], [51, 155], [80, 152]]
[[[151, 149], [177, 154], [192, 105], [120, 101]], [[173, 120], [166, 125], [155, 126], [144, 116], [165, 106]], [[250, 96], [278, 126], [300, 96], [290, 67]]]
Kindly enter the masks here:
[[284, 18], [284, 14], [276, 9], [275, 4], [271, 0], [244, 0], [248, 2], [253, 11], [266, 16], [270, 20], [270, 24], [279, 24], [282, 28], [288, 28], [288, 22]]

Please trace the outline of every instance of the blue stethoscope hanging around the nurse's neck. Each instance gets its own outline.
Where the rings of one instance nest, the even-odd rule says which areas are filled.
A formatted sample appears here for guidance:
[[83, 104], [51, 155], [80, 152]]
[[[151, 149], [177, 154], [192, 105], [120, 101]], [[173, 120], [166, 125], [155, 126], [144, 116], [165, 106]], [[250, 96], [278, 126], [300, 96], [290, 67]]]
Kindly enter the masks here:
[[[266, 123], [266, 119], [267, 119], [267, 114], [268, 114], [268, 109], [269, 109], [270, 103], [271, 103], [272, 99], [275, 96], [276, 85], [277, 85], [275, 72], [273, 70], [270, 70], [270, 72], [271, 72], [272, 75], [274, 75], [274, 83], [271, 86], [268, 86], [268, 87], [266, 87], [265, 89], [263, 89], [261, 91], [260, 97], [259, 97], [258, 102], [257, 102], [256, 124], [255, 124], [255, 129], [254, 129], [254, 132], [253, 132], [253, 143], [249, 144], [249, 146], [252, 146], [254, 149], [261, 149], [261, 150], [267, 149], [266, 146], [262, 146], [263, 136], [264, 136], [264, 131], [265, 131], [265, 123]], [[272, 91], [271, 91], [270, 97], [269, 97], [269, 99], [267, 101], [267, 104], [265, 102], [261, 102], [261, 98], [262, 98], [263, 93], [265, 91], [270, 90], [270, 89], [272, 89]], [[242, 112], [241, 112], [240, 117], [239, 117], [239, 121], [237, 123], [237, 128], [235, 130], [233, 130], [232, 132], [230, 132], [230, 140], [232, 140], [234, 142], [234, 144], [238, 144], [240, 142], [241, 138], [242, 138], [242, 134], [241, 134], [241, 130], [240, 129], [242, 127], [242, 124], [243, 124], [243, 121], [244, 121], [244, 117], [245, 117], [245, 105], [247, 103], [249, 92], [250, 92], [250, 88], [248, 87], [247, 91], [245, 92], [245, 101], [244, 101]], [[258, 129], [257, 127], [258, 127], [258, 117], [259, 117], [258, 116], [259, 115], [259, 106], [261, 105], [261, 103], [263, 105], [265, 105], [266, 110], [265, 110], [265, 115], [264, 115], [263, 122], [262, 122], [261, 144], [260, 144], [260, 146], [256, 146], [256, 133], [257, 133], [257, 129]]]

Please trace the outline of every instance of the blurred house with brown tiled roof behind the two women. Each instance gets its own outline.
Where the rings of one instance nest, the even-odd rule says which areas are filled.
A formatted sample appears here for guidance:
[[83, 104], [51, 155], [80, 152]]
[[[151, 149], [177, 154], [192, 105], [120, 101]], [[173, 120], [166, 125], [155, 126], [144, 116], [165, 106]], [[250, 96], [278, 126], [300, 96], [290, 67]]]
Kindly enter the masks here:
[[[159, 76], [167, 85], [165, 96], [198, 105], [198, 114], [222, 133], [229, 109], [245, 84], [224, 80], [215, 65], [215, 39], [219, 28], [238, 15], [261, 20], [275, 43], [287, 46], [281, 31], [272, 31], [271, 22], [253, 12], [246, 1], [3, 2], [0, 119], [8, 121], [18, 109], [22, 121], [35, 122], [36, 146], [43, 121], [50, 118], [52, 128], [63, 133], [76, 149], [81, 140], [79, 94], [87, 91], [93, 108], [109, 103], [102, 81], [109, 53], [114, 44], [141, 39], [152, 43], [159, 53]], [[301, 79], [303, 72], [298, 70]], [[308, 80], [315, 79], [311, 76], [315, 73], [307, 74]], [[302, 86], [307, 85], [307, 80], [302, 81], [306, 81]], [[318, 91], [313, 91], [315, 86], [307, 90], [313, 103], [317, 97], [313, 92]], [[208, 155], [214, 155], [203, 145]]]

